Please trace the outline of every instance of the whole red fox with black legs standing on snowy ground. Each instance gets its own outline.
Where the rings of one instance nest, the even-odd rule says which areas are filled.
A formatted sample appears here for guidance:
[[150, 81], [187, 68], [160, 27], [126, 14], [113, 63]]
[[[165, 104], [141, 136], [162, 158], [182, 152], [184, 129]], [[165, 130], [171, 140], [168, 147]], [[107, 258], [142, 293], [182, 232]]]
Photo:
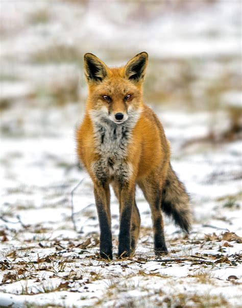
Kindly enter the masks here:
[[156, 255], [167, 253], [161, 210], [185, 232], [191, 226], [189, 197], [170, 164], [169, 142], [158, 117], [143, 102], [147, 64], [146, 52], [120, 68], [109, 68], [92, 54], [84, 56], [89, 91], [77, 151], [94, 185], [100, 256], [105, 259], [112, 259], [109, 185], [119, 201], [119, 257], [130, 256], [139, 237], [136, 185], [151, 208]]

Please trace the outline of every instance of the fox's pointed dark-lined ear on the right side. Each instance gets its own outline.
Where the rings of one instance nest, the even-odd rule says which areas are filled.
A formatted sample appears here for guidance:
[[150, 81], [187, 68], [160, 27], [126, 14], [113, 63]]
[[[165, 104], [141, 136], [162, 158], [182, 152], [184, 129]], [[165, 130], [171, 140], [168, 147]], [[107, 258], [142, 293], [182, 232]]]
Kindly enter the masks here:
[[142, 52], [132, 58], [125, 66], [127, 78], [135, 83], [143, 80], [148, 64], [148, 54]]

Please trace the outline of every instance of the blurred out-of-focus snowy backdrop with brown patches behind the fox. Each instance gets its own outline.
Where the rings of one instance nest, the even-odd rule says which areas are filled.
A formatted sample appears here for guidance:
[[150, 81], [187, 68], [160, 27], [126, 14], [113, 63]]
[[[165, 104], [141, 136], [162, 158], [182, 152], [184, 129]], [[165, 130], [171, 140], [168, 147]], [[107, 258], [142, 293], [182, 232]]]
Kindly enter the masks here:
[[[107, 65], [148, 52], [145, 100], [172, 143], [195, 221], [221, 217], [223, 224], [225, 208], [239, 209], [239, 0], [1, 0], [0, 34], [2, 217], [37, 224], [47, 216], [66, 226], [70, 192], [84, 176], [75, 128], [87, 52]], [[84, 195], [76, 191], [76, 212]]]

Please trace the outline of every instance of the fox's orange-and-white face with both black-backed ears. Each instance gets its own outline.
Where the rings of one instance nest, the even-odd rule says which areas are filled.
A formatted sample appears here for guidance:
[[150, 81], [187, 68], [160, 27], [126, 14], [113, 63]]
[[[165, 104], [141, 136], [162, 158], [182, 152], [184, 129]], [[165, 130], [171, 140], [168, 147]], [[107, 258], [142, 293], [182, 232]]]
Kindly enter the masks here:
[[122, 124], [128, 118], [137, 117], [142, 108], [142, 84], [147, 64], [146, 52], [118, 68], [109, 68], [98, 57], [85, 54], [87, 109], [92, 118]]

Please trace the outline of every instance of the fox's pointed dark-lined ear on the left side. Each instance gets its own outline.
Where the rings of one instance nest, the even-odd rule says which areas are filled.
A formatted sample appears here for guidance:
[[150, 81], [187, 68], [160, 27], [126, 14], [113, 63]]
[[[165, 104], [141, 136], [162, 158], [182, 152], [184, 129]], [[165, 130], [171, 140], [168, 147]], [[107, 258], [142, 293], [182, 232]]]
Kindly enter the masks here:
[[106, 64], [89, 53], [84, 55], [84, 71], [87, 82], [101, 82], [108, 74]]

